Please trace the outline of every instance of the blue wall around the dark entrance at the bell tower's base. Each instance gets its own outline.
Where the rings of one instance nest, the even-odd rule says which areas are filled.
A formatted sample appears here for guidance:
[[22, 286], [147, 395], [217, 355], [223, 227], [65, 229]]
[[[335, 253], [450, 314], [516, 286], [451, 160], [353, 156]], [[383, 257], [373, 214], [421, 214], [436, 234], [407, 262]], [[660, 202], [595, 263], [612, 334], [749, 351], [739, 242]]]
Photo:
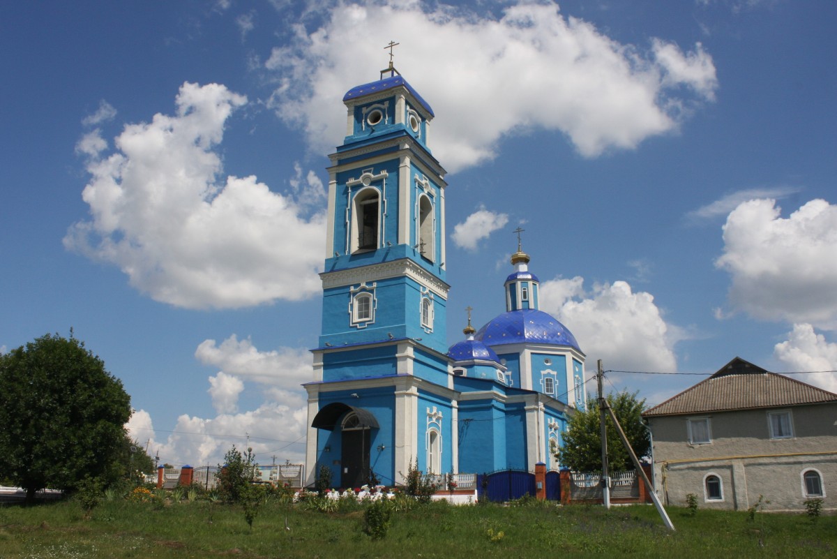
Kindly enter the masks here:
[[[371, 437], [369, 466], [377, 474], [383, 484], [392, 485], [393, 479], [393, 450], [395, 448], [395, 388], [352, 388], [335, 392], [320, 392], [319, 409], [325, 408], [330, 403], [341, 402], [356, 408], [364, 408], [371, 412], [377, 419], [379, 428], [369, 429]], [[357, 394], [359, 397], [353, 397]], [[345, 418], [345, 414], [339, 419], [338, 427], [333, 431], [317, 429], [317, 465], [331, 469], [331, 480], [335, 486], [341, 486], [341, 453], [342, 433], [339, 424]], [[377, 447], [382, 445], [383, 450], [378, 451]], [[326, 447], [329, 449], [326, 452]]]

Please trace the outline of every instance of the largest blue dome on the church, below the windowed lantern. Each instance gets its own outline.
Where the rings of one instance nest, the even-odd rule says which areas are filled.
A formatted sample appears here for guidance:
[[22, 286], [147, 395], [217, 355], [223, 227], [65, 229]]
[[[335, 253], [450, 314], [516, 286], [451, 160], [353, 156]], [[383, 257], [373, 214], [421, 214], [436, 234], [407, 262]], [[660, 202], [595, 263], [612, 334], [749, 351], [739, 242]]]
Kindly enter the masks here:
[[486, 346], [501, 344], [539, 343], [554, 346], [571, 346], [581, 351], [578, 341], [567, 326], [542, 310], [511, 310], [480, 328], [476, 340]]

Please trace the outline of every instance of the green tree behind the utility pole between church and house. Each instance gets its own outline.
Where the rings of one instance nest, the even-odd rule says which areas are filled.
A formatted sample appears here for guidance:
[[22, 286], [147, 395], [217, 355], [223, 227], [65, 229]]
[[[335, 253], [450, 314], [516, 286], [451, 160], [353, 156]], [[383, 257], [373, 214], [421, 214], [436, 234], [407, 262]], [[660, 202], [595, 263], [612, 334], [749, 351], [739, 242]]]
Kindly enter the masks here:
[[[637, 458], [650, 454], [651, 444], [642, 413], [645, 400], [637, 399], [637, 392], [619, 392], [607, 395], [619, 425], [634, 449]], [[608, 433], [608, 467], [610, 471], [634, 469], [628, 451], [624, 448], [613, 420], [605, 421]], [[563, 444], [556, 454], [562, 466], [578, 472], [597, 472], [602, 469], [602, 436], [599, 423], [598, 398], [590, 398], [586, 411], [578, 411], [569, 419]]]

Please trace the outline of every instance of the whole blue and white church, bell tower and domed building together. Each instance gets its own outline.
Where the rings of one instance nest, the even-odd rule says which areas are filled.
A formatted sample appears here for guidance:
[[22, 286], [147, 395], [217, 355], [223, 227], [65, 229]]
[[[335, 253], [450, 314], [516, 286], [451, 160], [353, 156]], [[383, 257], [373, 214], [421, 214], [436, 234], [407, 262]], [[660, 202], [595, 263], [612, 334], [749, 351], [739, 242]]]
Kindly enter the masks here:
[[568, 415], [586, 402], [584, 354], [538, 309], [519, 233], [506, 312], [477, 331], [469, 310], [465, 339], [448, 346], [434, 112], [392, 62], [343, 103], [346, 137], [328, 167], [322, 331], [304, 385], [307, 483], [322, 466], [341, 487], [402, 484], [416, 461], [434, 474], [557, 469]]

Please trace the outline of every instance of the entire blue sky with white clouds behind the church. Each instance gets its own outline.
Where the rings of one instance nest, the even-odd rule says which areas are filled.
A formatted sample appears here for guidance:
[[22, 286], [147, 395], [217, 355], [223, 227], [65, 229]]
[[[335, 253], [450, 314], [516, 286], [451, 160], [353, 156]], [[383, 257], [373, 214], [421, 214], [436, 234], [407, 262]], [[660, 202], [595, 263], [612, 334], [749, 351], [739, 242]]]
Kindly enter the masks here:
[[74, 335], [172, 464], [301, 459], [342, 95], [447, 168], [448, 336], [543, 310], [650, 404], [734, 356], [837, 391], [837, 6], [3, 3], [0, 351]]

